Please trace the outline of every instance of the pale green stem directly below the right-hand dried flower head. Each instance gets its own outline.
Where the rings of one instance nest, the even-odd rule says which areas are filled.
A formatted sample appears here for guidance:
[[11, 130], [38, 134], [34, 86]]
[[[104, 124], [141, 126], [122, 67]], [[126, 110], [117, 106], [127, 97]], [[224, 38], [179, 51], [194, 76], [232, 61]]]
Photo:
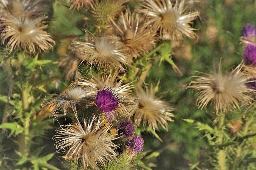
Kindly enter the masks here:
[[[225, 114], [221, 113], [220, 115], [220, 121], [219, 121], [219, 125], [218, 125], [218, 133], [219, 133], [219, 137], [218, 137], [218, 143], [222, 144], [223, 143], [223, 126], [224, 126], [224, 122], [225, 122]], [[217, 158], [218, 158], [218, 164], [219, 167], [218, 169], [220, 170], [226, 170], [226, 152], [225, 149], [221, 149], [218, 154], [217, 154]]]

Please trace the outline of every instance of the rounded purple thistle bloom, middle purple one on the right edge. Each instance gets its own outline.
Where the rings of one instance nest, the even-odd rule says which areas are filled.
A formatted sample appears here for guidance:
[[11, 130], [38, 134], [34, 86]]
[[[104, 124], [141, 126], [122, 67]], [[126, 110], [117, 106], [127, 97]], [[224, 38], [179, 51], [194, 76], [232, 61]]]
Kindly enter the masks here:
[[244, 62], [249, 65], [256, 65], [256, 46], [248, 44], [244, 49]]

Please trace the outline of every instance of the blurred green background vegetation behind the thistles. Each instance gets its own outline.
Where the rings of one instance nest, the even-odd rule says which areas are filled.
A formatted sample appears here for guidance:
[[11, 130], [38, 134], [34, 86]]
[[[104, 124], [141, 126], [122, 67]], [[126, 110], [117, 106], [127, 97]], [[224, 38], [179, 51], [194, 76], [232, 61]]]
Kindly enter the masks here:
[[[52, 52], [43, 53], [39, 58], [59, 61], [59, 58], [68, 54], [70, 42], [84, 34], [83, 29], [88, 22], [84, 22], [87, 16], [83, 12], [72, 12], [58, 0], [51, 0], [51, 2], [53, 16], [48, 32], [51, 33], [57, 45]], [[136, 5], [133, 1], [129, 4], [132, 8]], [[200, 11], [200, 18], [194, 22], [194, 27], [198, 29], [197, 40], [186, 39], [181, 44], [172, 44], [172, 60], [182, 75], [168, 62], [155, 60], [145, 79], [145, 82], [154, 86], [159, 82], [158, 95], [177, 108], [174, 112], [174, 122], [169, 123], [169, 131], [158, 132], [163, 142], [152, 134], [142, 133], [145, 139], [144, 151], [148, 151], [153, 158], [148, 160], [147, 157], [143, 162], [152, 169], [193, 169], [196, 166], [211, 169], [213, 167], [208, 161], [208, 153], [211, 151], [208, 150], [209, 146], [204, 133], [182, 119], [194, 119], [212, 124], [215, 115], [212, 113], [212, 108], [207, 111], [198, 109], [195, 92], [186, 89], [186, 86], [191, 80], [190, 77], [196, 75], [195, 70], [211, 71], [220, 63], [220, 59], [222, 59], [223, 70], [240, 63], [243, 59], [243, 46], [239, 41], [241, 28], [247, 23], [256, 25], [256, 2], [253, 0], [201, 0], [196, 8]], [[41, 91], [42, 96], [61, 92], [69, 85], [70, 81], [65, 79], [64, 70], [65, 68], [58, 67], [57, 62], [47, 64], [40, 69], [38, 74], [42, 79], [55, 78], [44, 86]], [[1, 68], [0, 93], [2, 95], [8, 95], [6, 81], [8, 76]], [[1, 113], [4, 112], [4, 106], [5, 103], [0, 100]], [[2, 115], [0, 115], [1, 119]], [[52, 121], [52, 118], [49, 120]], [[64, 122], [64, 118], [60, 119], [61, 121]], [[51, 130], [45, 131], [45, 134], [36, 138], [35, 141], [35, 145], [44, 145], [44, 155], [56, 152], [52, 136], [55, 133], [54, 130], [58, 128], [58, 123], [51, 124], [49, 128]], [[7, 137], [2, 148], [1, 152], [6, 157], [10, 155], [15, 157], [15, 140]], [[155, 157], [157, 155], [158, 157]], [[48, 163], [60, 169], [67, 168], [68, 166], [62, 164], [62, 161], [60, 154], [56, 153]]]

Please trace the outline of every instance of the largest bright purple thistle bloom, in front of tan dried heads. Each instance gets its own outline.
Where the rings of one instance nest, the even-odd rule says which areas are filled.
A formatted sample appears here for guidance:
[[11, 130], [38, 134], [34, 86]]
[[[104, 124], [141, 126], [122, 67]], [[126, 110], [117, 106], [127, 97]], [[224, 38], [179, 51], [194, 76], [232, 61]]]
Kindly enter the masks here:
[[106, 114], [109, 121], [110, 117], [113, 116], [112, 111], [114, 111], [119, 105], [120, 99], [113, 88], [103, 88], [96, 94], [95, 104], [96, 106]]

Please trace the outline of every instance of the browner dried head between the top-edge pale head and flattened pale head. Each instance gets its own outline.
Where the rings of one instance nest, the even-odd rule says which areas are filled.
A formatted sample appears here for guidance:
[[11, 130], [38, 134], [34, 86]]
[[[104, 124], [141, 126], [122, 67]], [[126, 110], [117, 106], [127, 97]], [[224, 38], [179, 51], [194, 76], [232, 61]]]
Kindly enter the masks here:
[[136, 58], [140, 52], [147, 53], [155, 45], [156, 33], [145, 26], [145, 18], [139, 14], [126, 10], [121, 13], [117, 22], [113, 19], [111, 21], [113, 24], [110, 29], [126, 49], [126, 55]]

